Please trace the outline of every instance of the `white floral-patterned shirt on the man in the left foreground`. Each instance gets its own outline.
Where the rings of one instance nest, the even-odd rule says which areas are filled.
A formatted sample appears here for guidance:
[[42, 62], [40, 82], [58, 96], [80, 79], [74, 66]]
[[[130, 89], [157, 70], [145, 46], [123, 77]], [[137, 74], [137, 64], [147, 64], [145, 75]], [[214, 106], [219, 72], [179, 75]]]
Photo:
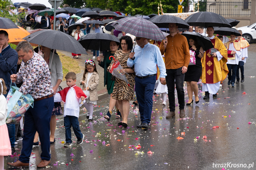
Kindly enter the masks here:
[[20, 92], [38, 99], [53, 94], [50, 70], [43, 57], [35, 53], [26, 63], [22, 62], [15, 83], [23, 82]]

